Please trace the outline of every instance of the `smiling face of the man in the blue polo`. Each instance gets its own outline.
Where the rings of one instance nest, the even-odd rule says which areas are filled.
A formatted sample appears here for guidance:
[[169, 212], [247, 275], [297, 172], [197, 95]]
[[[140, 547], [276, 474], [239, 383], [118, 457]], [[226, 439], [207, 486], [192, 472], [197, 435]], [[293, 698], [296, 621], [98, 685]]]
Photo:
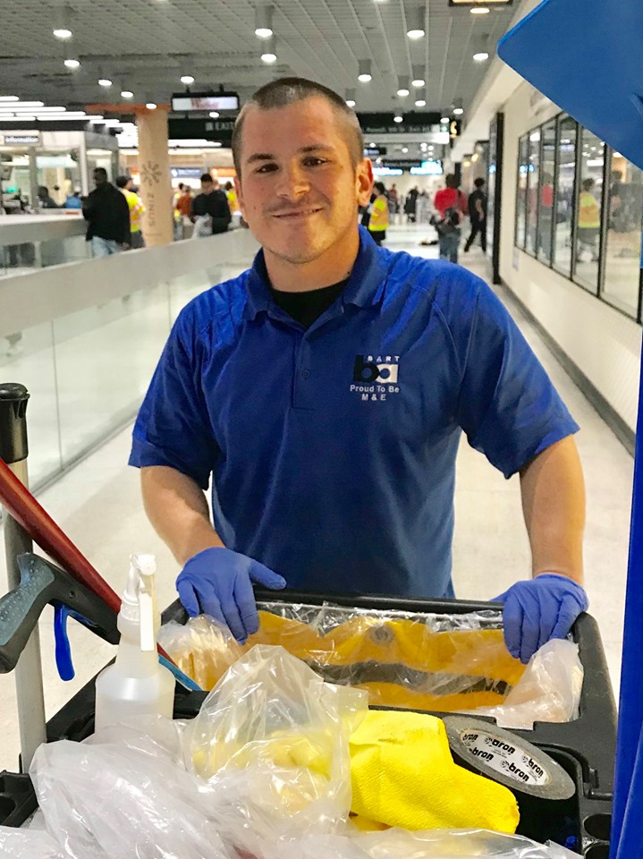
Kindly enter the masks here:
[[368, 159], [353, 168], [347, 138], [323, 97], [246, 115], [235, 187], [243, 217], [266, 251], [301, 264], [353, 240], [357, 207], [368, 203], [373, 175]]

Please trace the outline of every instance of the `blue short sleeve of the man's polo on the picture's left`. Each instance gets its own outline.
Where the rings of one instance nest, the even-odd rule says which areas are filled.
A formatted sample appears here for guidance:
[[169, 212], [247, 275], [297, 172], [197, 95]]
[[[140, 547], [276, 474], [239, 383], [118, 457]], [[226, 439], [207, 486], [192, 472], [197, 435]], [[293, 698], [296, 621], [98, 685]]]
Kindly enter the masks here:
[[188, 305], [174, 323], [140, 407], [130, 465], [167, 465], [207, 489], [218, 447], [199, 386], [204, 347], [195, 335]]

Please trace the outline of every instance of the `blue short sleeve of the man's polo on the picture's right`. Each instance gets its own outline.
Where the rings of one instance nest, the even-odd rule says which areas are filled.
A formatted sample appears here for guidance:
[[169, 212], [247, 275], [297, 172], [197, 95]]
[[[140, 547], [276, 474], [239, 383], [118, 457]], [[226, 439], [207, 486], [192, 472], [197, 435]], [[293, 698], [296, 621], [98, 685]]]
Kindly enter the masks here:
[[[579, 429], [503, 304], [474, 278], [458, 422], [504, 476]], [[457, 343], [457, 337], [456, 337]]]

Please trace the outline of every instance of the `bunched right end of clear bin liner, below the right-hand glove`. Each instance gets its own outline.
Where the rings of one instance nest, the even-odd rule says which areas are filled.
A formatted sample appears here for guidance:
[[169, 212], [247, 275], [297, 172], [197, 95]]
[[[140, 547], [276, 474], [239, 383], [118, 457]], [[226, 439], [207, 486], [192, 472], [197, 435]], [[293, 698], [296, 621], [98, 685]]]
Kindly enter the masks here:
[[477, 716], [493, 716], [501, 727], [532, 730], [534, 722], [571, 722], [579, 718], [584, 671], [579, 646], [563, 639], [546, 642], [503, 704], [478, 707]]

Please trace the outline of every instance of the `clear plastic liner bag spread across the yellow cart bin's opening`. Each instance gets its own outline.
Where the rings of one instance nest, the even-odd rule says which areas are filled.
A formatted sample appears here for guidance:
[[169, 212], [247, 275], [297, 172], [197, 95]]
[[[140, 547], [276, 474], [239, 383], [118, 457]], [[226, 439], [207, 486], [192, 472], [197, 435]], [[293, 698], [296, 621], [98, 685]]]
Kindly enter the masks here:
[[159, 641], [205, 689], [260, 643], [283, 646], [331, 683], [366, 690], [373, 705], [497, 715], [504, 727], [576, 718], [582, 667], [575, 645], [547, 646], [526, 669], [504, 645], [500, 611], [418, 615], [283, 602], [258, 608], [259, 631], [243, 648], [205, 616], [167, 625]]

